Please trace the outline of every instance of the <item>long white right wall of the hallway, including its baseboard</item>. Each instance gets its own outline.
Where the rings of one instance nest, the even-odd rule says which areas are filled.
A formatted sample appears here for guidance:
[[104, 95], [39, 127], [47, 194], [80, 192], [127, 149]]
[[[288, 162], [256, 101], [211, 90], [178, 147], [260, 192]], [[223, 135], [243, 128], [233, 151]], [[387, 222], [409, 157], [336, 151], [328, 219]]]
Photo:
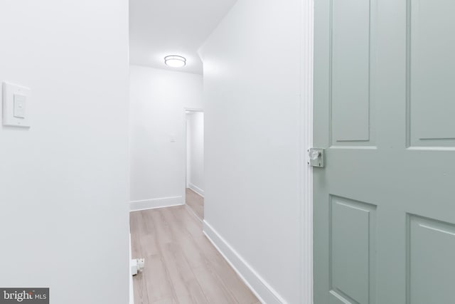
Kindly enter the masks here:
[[204, 63], [205, 232], [266, 303], [301, 303], [301, 0], [239, 0]]

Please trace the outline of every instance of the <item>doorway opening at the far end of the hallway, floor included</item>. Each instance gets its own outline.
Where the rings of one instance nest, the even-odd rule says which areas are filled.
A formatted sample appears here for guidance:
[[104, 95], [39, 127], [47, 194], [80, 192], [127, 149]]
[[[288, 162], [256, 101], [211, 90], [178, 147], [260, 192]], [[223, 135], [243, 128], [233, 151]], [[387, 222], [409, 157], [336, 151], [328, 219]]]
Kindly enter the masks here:
[[186, 109], [185, 204], [204, 219], [204, 112]]

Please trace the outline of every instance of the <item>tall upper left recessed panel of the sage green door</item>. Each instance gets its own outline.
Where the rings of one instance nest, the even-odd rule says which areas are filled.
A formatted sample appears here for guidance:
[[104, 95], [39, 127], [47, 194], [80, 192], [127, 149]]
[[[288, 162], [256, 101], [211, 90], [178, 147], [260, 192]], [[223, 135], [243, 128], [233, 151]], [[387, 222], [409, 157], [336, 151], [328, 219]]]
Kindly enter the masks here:
[[364, 0], [333, 1], [331, 14], [333, 144], [368, 142], [370, 140], [370, 4]]

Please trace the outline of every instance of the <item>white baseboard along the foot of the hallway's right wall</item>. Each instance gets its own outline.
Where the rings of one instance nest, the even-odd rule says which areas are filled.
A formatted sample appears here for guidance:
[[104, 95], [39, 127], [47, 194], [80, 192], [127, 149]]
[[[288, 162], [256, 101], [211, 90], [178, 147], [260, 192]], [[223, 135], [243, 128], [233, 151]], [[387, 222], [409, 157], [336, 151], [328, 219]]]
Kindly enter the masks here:
[[264, 304], [287, 304], [276, 290], [274, 290], [259, 274], [235, 251], [230, 244], [213, 229], [207, 221], [203, 221], [203, 233], [213, 246], [228, 261], [230, 266], [242, 278], [242, 281], [252, 290]]

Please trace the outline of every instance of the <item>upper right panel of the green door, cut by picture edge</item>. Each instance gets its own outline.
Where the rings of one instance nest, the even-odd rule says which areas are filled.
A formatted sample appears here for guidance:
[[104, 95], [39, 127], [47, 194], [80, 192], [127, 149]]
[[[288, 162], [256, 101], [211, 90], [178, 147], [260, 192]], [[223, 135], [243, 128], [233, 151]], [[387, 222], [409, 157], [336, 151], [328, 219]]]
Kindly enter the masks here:
[[410, 144], [455, 146], [455, 1], [412, 0], [407, 73]]

